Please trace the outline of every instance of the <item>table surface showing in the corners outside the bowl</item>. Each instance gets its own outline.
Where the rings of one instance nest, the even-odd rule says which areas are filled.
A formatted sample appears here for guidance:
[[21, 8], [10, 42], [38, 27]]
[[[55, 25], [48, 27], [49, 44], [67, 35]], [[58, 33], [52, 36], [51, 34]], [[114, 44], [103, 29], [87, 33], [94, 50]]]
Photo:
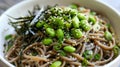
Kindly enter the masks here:
[[[6, 9], [10, 8], [12, 5], [20, 2], [22, 0], [0, 0], [0, 14], [3, 13]], [[119, 0], [100, 0], [103, 1], [120, 12], [120, 1]], [[4, 64], [0, 62], [0, 67], [7, 67], [3, 66]]]

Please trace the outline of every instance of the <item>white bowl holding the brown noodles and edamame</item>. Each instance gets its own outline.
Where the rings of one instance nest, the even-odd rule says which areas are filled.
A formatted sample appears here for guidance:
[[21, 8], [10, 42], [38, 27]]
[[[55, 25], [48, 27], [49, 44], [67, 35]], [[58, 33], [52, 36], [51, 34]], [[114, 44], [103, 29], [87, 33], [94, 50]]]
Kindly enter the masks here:
[[[10, 9], [8, 9], [5, 13], [3, 13], [0, 17], [0, 60], [5, 63], [5, 65], [8, 65], [9, 67], [14, 67], [12, 64], [10, 64], [5, 58], [4, 58], [4, 36], [9, 33], [14, 33], [14, 29], [8, 25], [8, 16], [13, 17], [20, 17], [27, 15], [28, 10], [32, 10], [33, 6], [36, 4], [40, 6], [46, 6], [46, 5], [69, 5], [71, 3], [77, 3], [81, 6], [85, 6], [87, 8], [90, 8], [94, 11], [97, 11], [101, 13], [102, 15], [106, 16], [110, 23], [112, 24], [115, 33], [120, 39], [120, 13], [117, 12], [114, 8], [111, 6], [101, 2], [100, 0], [25, 0]], [[110, 63], [104, 65], [105, 67], [120, 67], [119, 64], [120, 55]]]

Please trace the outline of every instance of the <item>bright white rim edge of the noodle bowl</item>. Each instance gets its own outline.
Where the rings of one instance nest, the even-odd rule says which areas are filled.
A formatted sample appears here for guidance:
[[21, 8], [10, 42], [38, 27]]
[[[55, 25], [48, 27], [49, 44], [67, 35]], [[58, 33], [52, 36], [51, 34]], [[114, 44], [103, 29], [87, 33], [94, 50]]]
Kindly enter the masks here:
[[[21, 5], [25, 5], [26, 3], [31, 3], [32, 1], [33, 0], [23, 0], [23, 1], [15, 4], [15, 5], [13, 5], [12, 7], [8, 8], [4, 13], [2, 13], [0, 18], [4, 14], [8, 13], [10, 10], [15, 9], [15, 8], [17, 8], [17, 7], [21, 6]], [[35, 1], [37, 1], [37, 0], [35, 0]], [[120, 12], [118, 10], [116, 10], [115, 8], [113, 8], [111, 5], [109, 5], [109, 4], [107, 4], [107, 3], [103, 2], [103, 1], [100, 1], [100, 0], [91, 0], [91, 1], [95, 1], [96, 3], [99, 3], [99, 4], [107, 7], [108, 9], [111, 9], [114, 13], [118, 14], [118, 16], [120, 17]], [[113, 65], [118, 59], [120, 59], [120, 55], [117, 58], [115, 58], [113, 61], [109, 62], [108, 64], [106, 64], [104, 66], [107, 67], [107, 66]], [[15, 67], [11, 63], [9, 63], [7, 60], [5, 60], [5, 58], [2, 57], [1, 55], [0, 55], [0, 60], [1, 60], [1, 62], [5, 63], [7, 66]]]

